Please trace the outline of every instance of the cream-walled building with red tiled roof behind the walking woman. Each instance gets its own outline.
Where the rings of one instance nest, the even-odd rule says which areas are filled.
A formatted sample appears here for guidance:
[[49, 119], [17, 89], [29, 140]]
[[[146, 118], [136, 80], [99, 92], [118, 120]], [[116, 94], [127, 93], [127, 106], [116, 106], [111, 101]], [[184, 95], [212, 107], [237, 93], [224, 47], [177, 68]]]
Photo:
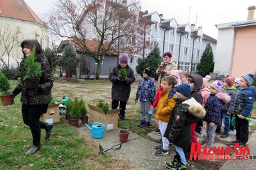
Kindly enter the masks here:
[[[23, 0], [0, 1], [0, 57], [9, 66], [23, 57], [21, 41], [36, 39], [41, 46], [49, 45], [47, 27]], [[1, 65], [0, 65], [1, 66]]]

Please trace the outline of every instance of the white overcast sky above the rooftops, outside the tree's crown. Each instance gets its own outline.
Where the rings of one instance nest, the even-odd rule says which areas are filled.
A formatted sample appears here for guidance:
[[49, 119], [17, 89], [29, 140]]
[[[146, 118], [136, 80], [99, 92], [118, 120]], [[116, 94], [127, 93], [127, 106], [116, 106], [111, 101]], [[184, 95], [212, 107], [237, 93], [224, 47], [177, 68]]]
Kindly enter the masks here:
[[[24, 1], [39, 17], [43, 17], [56, 0]], [[255, 0], [141, 0], [142, 11], [157, 11], [158, 14], [163, 14], [164, 19], [175, 18], [179, 25], [197, 21], [196, 26], [203, 27], [203, 33], [215, 39], [215, 25], [246, 20], [247, 8], [253, 5], [256, 5]]]

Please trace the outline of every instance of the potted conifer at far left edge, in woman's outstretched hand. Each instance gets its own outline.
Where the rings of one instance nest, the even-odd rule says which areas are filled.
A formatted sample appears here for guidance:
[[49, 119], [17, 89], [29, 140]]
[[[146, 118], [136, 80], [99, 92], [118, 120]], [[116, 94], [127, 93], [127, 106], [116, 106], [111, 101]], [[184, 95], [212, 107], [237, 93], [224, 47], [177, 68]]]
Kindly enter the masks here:
[[10, 88], [11, 84], [9, 83], [8, 78], [0, 73], [0, 98], [3, 106], [14, 104], [14, 96], [9, 92]]

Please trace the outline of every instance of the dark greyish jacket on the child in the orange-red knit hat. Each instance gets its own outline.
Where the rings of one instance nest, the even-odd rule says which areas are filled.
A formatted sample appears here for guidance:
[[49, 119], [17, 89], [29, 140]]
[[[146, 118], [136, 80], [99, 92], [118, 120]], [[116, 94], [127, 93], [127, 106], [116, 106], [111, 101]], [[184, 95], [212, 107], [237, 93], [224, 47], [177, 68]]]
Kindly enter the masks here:
[[236, 88], [234, 86], [231, 86], [231, 88], [223, 88], [221, 92], [228, 94], [231, 97], [230, 102], [227, 104], [223, 104], [221, 110], [224, 110], [226, 112], [233, 112], [234, 108], [234, 100], [235, 100], [235, 94], [236, 94]]

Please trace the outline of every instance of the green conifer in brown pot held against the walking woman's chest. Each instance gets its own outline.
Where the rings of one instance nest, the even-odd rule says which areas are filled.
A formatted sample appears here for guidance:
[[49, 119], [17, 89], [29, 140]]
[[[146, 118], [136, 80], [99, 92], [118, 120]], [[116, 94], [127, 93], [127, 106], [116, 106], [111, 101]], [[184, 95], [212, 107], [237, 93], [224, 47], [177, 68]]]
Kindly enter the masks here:
[[33, 48], [31, 55], [25, 59], [25, 76], [23, 77], [24, 86], [26, 88], [34, 88], [39, 84], [41, 76], [41, 64], [35, 60], [35, 48]]

